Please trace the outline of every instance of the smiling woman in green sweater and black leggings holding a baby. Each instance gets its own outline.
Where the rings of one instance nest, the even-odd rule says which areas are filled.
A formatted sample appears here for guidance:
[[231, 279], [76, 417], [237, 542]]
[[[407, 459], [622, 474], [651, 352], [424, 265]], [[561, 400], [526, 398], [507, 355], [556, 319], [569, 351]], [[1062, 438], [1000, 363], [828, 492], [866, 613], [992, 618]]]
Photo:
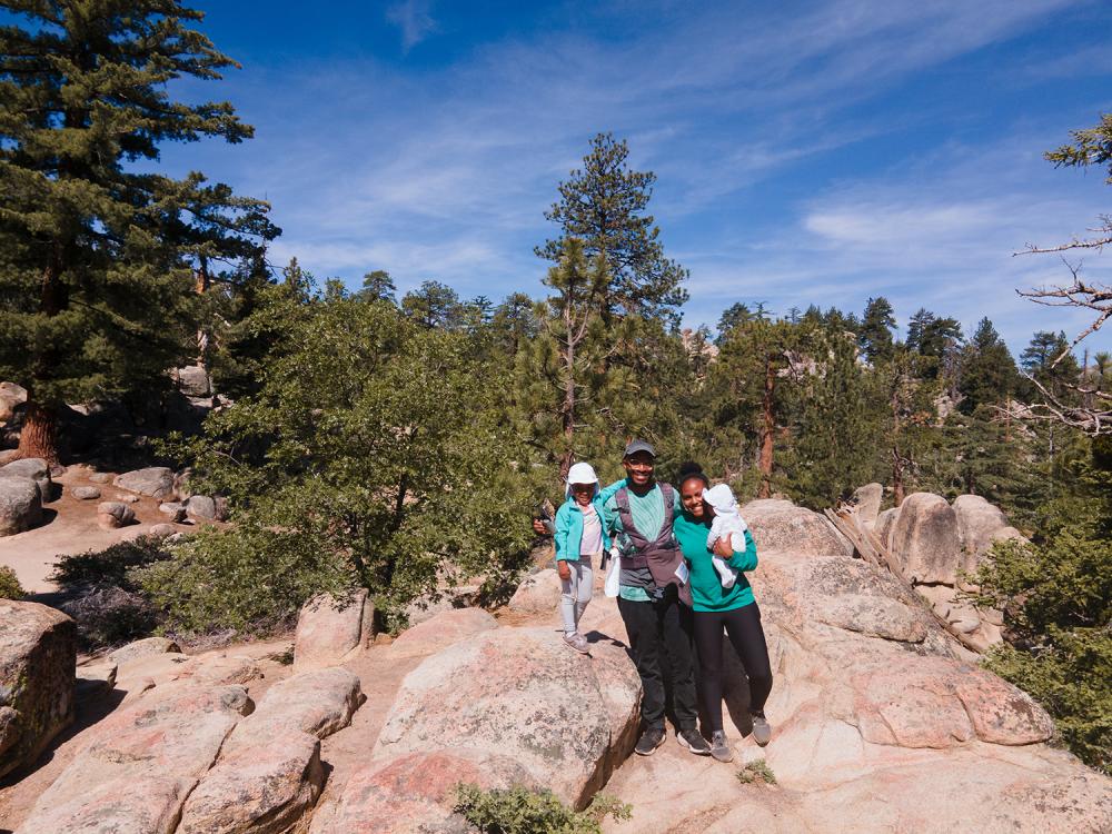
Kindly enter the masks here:
[[753, 588], [744, 572], [757, 566], [757, 548], [753, 536], [745, 530], [745, 550], [732, 550], [722, 539], [715, 553], [738, 572], [737, 580], [729, 588], [722, 587], [722, 577], [714, 569], [706, 546], [707, 532], [714, 510], [703, 502], [703, 490], [711, 481], [697, 464], [685, 465], [679, 473], [679, 500], [683, 512], [672, 525], [676, 540], [691, 570], [692, 599], [694, 600], [695, 648], [699, 661], [699, 689], [706, 719], [711, 729], [711, 755], [719, 762], [729, 762], [734, 754], [722, 728], [722, 633], [725, 629], [737, 652], [749, 679], [749, 714], [753, 718], [753, 738], [762, 747], [772, 737], [772, 727], [764, 716], [764, 705], [772, 691], [772, 666], [761, 609], [753, 599]]

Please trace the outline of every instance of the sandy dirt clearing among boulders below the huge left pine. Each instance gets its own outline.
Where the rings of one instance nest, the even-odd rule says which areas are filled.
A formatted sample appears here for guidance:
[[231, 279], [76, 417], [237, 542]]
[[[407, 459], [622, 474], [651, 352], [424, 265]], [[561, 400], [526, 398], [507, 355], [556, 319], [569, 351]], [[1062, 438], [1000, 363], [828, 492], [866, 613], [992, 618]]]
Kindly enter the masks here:
[[[20, 585], [29, 594], [49, 594], [57, 590], [49, 577], [59, 556], [102, 550], [117, 542], [142, 535], [151, 525], [169, 520], [169, 517], [158, 509], [160, 502], [139, 496], [139, 500], [130, 505], [136, 513], [137, 524], [113, 530], [100, 529], [97, 526], [97, 505], [101, 502], [117, 500], [117, 496], [120, 495], [135, 495], [135, 493], [115, 487], [111, 483], [95, 484], [89, 480], [92, 474], [93, 470], [87, 466], [68, 467], [63, 475], [54, 478], [54, 484], [61, 486], [61, 496], [43, 505], [46, 522], [34, 529], [0, 538], [0, 564], [16, 570]], [[113, 473], [113, 477], [115, 475]], [[76, 486], [98, 487], [100, 498], [92, 500], [75, 498], [70, 489]], [[191, 524], [176, 526], [183, 532], [192, 527]]]

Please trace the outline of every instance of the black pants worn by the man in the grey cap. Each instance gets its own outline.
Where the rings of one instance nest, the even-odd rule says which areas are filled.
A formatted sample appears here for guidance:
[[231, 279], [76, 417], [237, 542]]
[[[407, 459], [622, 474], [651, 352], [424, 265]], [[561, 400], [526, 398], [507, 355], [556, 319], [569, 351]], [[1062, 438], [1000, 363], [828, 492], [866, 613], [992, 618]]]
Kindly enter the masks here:
[[[645, 728], [664, 729], [666, 689], [679, 729], [695, 727], [695, 669], [692, 613], [669, 585], [662, 599], [634, 602], [618, 597], [618, 612], [629, 635], [633, 661], [645, 691], [641, 717]], [[667, 679], [665, 678], [667, 675]]]

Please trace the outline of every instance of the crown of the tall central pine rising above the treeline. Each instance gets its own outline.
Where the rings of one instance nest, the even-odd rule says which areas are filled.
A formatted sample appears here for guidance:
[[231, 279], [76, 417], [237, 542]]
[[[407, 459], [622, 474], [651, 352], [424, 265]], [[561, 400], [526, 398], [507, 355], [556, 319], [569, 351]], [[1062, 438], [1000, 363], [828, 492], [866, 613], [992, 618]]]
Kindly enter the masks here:
[[687, 300], [683, 282], [687, 270], [664, 257], [661, 230], [645, 209], [653, 196], [656, 175], [634, 171], [627, 163], [629, 148], [612, 133], [598, 133], [583, 168], [559, 183], [559, 202], [545, 217], [560, 227], [560, 237], [536, 249], [547, 260], [559, 262], [568, 238], [578, 238], [587, 258], [603, 258], [610, 278], [603, 301], [607, 321], [639, 314], [678, 321], [678, 308]]

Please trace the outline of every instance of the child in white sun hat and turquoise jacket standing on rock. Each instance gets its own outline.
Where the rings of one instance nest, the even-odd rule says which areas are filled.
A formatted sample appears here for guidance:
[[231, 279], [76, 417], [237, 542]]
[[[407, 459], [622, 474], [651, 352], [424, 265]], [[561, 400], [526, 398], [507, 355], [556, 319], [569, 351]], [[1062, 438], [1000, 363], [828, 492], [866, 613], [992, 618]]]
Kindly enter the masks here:
[[594, 590], [592, 565], [610, 546], [598, 497], [598, 476], [590, 464], [575, 464], [567, 473], [567, 500], [556, 512], [556, 569], [562, 583], [560, 614], [564, 643], [586, 654], [587, 638], [579, 618]]

